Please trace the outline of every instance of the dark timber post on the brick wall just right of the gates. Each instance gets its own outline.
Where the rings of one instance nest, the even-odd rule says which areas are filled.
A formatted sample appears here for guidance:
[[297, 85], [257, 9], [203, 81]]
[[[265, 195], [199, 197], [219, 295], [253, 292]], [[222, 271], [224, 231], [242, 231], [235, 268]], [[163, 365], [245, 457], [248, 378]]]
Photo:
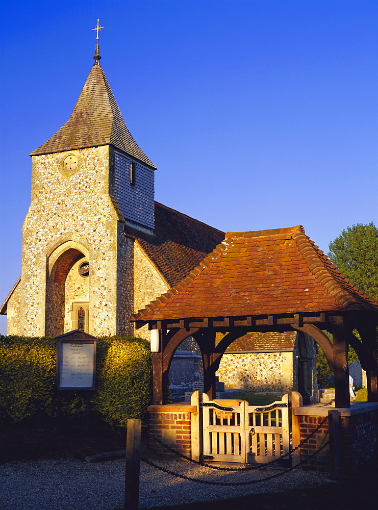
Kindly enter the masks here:
[[335, 407], [350, 407], [348, 342], [344, 321], [332, 325]]

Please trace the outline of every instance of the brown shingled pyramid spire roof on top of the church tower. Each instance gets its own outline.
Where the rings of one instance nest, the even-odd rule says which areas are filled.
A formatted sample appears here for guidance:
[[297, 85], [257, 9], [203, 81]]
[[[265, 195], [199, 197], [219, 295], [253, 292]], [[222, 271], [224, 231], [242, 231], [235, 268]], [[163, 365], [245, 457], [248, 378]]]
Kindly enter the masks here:
[[94, 65], [68, 121], [31, 156], [110, 144], [156, 168], [127, 129], [105, 72]]

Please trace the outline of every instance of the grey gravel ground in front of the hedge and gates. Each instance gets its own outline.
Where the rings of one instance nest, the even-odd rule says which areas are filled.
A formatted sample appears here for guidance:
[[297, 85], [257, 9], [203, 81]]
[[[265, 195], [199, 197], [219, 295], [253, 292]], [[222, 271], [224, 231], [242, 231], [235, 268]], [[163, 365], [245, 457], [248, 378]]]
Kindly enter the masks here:
[[[180, 460], [156, 464], [187, 476], [214, 481], [246, 481], [277, 470], [226, 473]], [[0, 466], [2, 510], [121, 510], [125, 461], [86, 463], [77, 460], [10, 462]], [[245, 487], [216, 487], [173, 477], [141, 463], [140, 508], [232, 498], [243, 494], [281, 492], [329, 481], [326, 474], [294, 470], [267, 482]]]

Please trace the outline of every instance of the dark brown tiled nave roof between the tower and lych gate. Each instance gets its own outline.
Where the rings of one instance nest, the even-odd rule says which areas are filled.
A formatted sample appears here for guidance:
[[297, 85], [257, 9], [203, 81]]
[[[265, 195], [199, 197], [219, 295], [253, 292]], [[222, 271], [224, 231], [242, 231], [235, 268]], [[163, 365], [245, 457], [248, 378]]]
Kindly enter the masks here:
[[224, 232], [155, 202], [154, 235], [125, 226], [169, 287], [177, 285], [224, 238]]

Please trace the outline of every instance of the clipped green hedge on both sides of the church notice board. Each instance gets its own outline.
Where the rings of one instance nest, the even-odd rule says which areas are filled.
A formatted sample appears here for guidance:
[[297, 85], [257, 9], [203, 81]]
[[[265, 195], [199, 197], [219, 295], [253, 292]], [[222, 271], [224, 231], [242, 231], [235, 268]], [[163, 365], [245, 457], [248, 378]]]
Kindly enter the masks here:
[[[103, 337], [97, 341], [96, 390], [91, 410], [110, 425], [146, 418], [152, 398], [152, 354], [146, 340]], [[85, 411], [81, 392], [62, 394], [62, 413]], [[0, 336], [0, 420], [55, 416], [56, 343], [54, 338]]]

